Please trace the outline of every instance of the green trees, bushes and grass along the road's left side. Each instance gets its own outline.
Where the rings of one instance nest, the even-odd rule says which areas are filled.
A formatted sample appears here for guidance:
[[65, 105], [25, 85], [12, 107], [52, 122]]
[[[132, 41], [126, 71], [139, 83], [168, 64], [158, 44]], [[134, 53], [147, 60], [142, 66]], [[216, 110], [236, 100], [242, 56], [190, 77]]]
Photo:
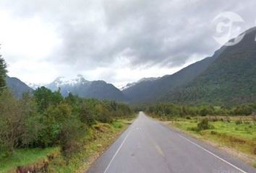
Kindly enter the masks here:
[[0, 56], [0, 172], [46, 172], [55, 157], [64, 161], [61, 167], [78, 164], [72, 158], [98, 138], [98, 130], [103, 137], [122, 129], [124, 123], [116, 119], [132, 115], [123, 103], [72, 93], [62, 97], [60, 89], [51, 92], [44, 86], [17, 99], [6, 87], [6, 76], [7, 64]]

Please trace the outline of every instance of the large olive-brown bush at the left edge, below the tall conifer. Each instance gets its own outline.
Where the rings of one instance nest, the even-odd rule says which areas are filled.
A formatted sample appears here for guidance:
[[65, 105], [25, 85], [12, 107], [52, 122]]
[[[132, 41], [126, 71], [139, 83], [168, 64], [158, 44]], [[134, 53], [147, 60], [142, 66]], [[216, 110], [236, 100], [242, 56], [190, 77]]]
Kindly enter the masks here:
[[35, 102], [29, 94], [14, 98], [7, 89], [0, 96], [0, 150], [31, 146], [40, 128]]

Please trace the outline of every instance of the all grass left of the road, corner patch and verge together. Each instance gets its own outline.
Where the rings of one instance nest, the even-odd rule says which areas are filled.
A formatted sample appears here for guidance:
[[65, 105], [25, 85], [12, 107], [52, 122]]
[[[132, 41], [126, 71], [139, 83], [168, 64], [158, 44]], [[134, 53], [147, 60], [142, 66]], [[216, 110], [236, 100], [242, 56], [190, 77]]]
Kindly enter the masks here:
[[[18, 166], [42, 167], [46, 161], [48, 172], [85, 172], [131, 121], [132, 119], [114, 120], [111, 124], [93, 125], [82, 139], [82, 151], [74, 154], [68, 161], [60, 154], [59, 147], [16, 150], [12, 156], [0, 159], [0, 172], [15, 172]], [[51, 161], [48, 159], [50, 155], [54, 155]]]

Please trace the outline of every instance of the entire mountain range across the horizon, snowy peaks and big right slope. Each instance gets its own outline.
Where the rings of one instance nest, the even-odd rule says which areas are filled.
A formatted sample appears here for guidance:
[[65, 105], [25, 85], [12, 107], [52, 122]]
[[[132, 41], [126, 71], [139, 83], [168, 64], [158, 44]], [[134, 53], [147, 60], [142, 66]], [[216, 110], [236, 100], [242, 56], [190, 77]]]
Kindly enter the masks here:
[[[127, 84], [121, 91], [105, 81], [87, 81], [59, 77], [48, 89], [80, 97], [114, 99], [129, 103], [174, 102], [179, 104], [239, 104], [256, 102], [256, 27], [247, 30], [244, 39], [233, 46], [223, 46], [213, 56], [193, 63], [175, 74], [145, 78]], [[17, 96], [30, 90], [25, 83], [7, 77], [8, 86]]]

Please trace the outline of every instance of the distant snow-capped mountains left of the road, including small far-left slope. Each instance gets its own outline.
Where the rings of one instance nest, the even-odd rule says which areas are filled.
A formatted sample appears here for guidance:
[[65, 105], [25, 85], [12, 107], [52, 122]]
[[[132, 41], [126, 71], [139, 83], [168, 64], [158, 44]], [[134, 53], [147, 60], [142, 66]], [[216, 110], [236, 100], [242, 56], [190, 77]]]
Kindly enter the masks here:
[[[30, 86], [27, 86], [20, 79], [7, 77], [7, 86], [15, 96], [22, 97], [23, 92], [33, 92], [33, 89], [37, 89], [42, 85], [30, 84]], [[121, 102], [127, 100], [124, 94], [113, 84], [107, 84], [106, 81], [88, 81], [82, 75], [77, 75], [74, 79], [58, 77], [50, 84], [43, 86], [52, 91], [61, 89], [61, 94], [64, 97], [72, 93], [84, 98], [109, 99]]]

